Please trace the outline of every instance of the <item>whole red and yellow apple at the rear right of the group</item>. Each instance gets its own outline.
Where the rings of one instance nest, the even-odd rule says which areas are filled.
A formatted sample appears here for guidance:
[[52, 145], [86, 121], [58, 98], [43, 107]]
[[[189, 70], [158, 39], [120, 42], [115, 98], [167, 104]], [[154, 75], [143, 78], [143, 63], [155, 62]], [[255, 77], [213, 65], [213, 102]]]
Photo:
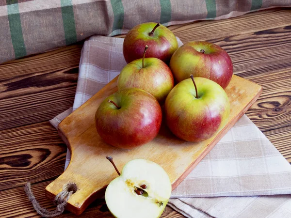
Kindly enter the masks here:
[[[204, 49], [204, 53], [200, 52]], [[233, 73], [227, 52], [210, 42], [189, 42], [179, 47], [170, 61], [170, 68], [177, 82], [190, 77], [208, 78], [226, 88]]]

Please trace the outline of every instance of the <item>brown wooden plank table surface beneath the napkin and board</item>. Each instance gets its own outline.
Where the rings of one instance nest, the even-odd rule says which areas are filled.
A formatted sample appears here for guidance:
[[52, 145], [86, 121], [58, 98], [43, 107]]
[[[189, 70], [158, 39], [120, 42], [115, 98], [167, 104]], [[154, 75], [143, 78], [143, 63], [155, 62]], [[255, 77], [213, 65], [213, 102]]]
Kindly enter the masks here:
[[[234, 73], [263, 87], [247, 116], [291, 162], [291, 10], [261, 11], [170, 29], [182, 42], [226, 49]], [[45, 187], [64, 170], [66, 146], [49, 119], [73, 105], [82, 43], [0, 65], [0, 217], [39, 217], [24, 192], [54, 209]], [[69, 212], [62, 216], [74, 217]], [[79, 217], [111, 218], [97, 200]], [[166, 207], [162, 218], [183, 216]]]

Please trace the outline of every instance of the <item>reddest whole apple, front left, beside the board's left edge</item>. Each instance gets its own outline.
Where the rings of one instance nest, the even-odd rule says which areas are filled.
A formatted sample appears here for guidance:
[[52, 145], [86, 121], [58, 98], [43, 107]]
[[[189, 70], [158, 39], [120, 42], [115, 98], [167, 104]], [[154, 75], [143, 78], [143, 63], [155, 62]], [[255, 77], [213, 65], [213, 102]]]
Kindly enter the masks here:
[[[120, 109], [107, 100], [114, 101]], [[162, 109], [150, 93], [133, 88], [107, 97], [95, 114], [100, 137], [117, 148], [131, 149], [153, 140], [161, 127]]]

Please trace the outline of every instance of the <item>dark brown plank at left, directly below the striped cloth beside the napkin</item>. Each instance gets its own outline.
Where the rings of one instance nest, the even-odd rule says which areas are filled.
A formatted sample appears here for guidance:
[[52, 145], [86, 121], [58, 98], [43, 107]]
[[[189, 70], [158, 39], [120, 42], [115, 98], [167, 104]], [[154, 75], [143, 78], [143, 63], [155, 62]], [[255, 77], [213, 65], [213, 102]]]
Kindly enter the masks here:
[[81, 45], [0, 65], [0, 130], [47, 121], [74, 102]]

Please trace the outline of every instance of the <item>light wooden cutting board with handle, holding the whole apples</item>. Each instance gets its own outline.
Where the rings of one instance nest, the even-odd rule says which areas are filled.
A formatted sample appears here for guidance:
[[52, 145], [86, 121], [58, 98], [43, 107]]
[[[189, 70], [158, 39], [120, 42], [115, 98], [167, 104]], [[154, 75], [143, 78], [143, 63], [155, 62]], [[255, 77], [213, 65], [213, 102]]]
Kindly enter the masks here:
[[59, 125], [59, 134], [71, 151], [68, 168], [46, 187], [46, 194], [53, 199], [68, 182], [77, 184], [66, 209], [79, 215], [95, 199], [105, 193], [106, 186], [117, 176], [105, 156], [113, 156], [119, 169], [132, 159], [144, 158], [162, 166], [168, 173], [172, 188], [194, 169], [226, 132], [258, 99], [262, 88], [256, 83], [233, 76], [226, 88], [230, 102], [229, 121], [217, 134], [202, 142], [186, 142], [175, 137], [162, 125], [159, 135], [151, 142], [132, 150], [118, 149], [103, 142], [94, 124], [95, 112], [108, 95], [117, 91], [117, 77], [91, 97]]

